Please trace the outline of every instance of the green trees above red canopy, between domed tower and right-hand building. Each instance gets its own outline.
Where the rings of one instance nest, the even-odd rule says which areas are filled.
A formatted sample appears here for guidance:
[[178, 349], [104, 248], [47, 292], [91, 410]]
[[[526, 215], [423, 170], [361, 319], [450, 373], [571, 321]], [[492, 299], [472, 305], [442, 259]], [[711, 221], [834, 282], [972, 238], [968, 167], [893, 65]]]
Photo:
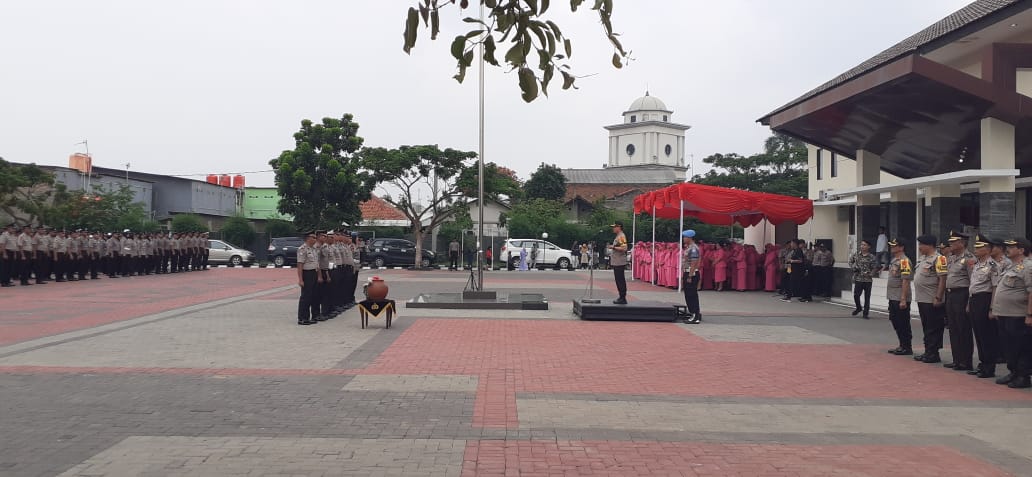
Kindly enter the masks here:
[[696, 182], [710, 186], [770, 192], [805, 197], [807, 195], [806, 146], [777, 133], [767, 138], [764, 152], [752, 156], [714, 154], [703, 159], [713, 169]]

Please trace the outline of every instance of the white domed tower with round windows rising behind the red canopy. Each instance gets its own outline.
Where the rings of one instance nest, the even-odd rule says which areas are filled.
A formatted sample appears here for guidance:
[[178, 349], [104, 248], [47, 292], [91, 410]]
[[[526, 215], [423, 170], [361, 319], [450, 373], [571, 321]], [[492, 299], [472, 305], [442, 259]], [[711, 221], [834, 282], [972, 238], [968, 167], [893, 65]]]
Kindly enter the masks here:
[[609, 131], [609, 167], [660, 165], [684, 167], [684, 131], [691, 126], [672, 122], [674, 112], [645, 92], [623, 113], [623, 122]]

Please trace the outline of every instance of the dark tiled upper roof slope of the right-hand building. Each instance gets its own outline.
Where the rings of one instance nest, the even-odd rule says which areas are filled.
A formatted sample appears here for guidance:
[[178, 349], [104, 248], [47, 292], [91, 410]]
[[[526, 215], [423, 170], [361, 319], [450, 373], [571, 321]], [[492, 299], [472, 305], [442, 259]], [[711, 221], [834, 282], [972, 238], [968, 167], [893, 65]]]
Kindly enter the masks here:
[[864, 73], [877, 69], [882, 65], [889, 64], [894, 60], [918, 52], [923, 47], [930, 45], [930, 43], [933, 43], [940, 38], [953, 33], [959, 33], [960, 30], [965, 29], [965, 27], [974, 26], [979, 21], [987, 19], [993, 13], [996, 13], [1008, 6], [1023, 2], [1032, 5], [1032, 2], [1029, 0], [977, 0], [972, 2], [964, 8], [957, 10], [953, 14], [936, 22], [934, 25], [915, 33], [909, 38], [896, 43], [889, 50], [885, 50], [875, 55], [873, 58], [857, 65], [854, 68], [839, 74], [832, 81], [810, 90], [806, 94], [794, 99], [787, 104], [771, 112], [761, 121], [839, 85], [847, 83], [854, 77], [863, 75]]

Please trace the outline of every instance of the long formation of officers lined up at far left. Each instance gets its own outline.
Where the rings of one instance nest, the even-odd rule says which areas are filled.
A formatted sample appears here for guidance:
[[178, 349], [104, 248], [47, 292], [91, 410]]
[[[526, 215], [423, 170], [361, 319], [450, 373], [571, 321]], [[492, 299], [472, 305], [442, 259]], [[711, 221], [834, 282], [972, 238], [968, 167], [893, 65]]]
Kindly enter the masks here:
[[176, 274], [208, 268], [206, 233], [101, 233], [8, 225], [0, 232], [0, 286]]

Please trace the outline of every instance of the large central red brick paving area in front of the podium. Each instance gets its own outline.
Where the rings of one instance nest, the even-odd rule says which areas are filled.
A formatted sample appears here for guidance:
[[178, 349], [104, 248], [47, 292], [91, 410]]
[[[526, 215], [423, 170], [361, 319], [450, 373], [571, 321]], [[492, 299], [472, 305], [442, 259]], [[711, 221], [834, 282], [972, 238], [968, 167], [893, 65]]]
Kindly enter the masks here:
[[364, 373], [479, 376], [486, 426], [512, 426], [514, 392], [1032, 400], [878, 347], [711, 343], [656, 323], [422, 319]]

